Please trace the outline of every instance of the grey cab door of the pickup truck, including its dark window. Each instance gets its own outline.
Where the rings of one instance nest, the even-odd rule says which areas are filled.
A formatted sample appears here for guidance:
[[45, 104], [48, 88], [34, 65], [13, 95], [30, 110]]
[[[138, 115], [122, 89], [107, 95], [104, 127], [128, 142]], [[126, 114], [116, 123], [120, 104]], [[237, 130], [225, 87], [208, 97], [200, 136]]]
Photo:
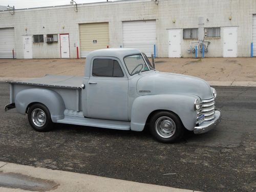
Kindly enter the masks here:
[[128, 120], [128, 79], [119, 59], [94, 58], [85, 92], [85, 117]]

